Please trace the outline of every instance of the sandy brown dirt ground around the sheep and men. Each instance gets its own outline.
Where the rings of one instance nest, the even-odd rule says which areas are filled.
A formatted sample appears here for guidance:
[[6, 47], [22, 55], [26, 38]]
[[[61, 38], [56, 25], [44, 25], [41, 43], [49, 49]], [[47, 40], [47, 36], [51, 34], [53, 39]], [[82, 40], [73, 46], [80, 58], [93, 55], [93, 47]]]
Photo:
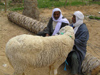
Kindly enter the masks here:
[[[88, 18], [89, 15], [100, 17], [100, 5], [68, 6], [66, 8], [61, 7], [60, 9], [62, 10], [63, 16], [70, 22], [74, 11], [79, 10], [83, 12], [85, 15], [84, 23], [86, 23], [90, 34], [87, 44], [87, 52], [100, 59], [100, 20]], [[34, 35], [34, 33], [8, 21], [7, 14], [8, 12], [5, 13], [4, 11], [0, 11], [0, 75], [12, 75], [14, 72], [5, 55], [5, 46], [8, 40], [20, 34]], [[40, 9], [40, 21], [47, 23], [51, 14], [52, 9]], [[64, 65], [61, 65], [58, 69], [58, 75], [62, 74], [71, 75], [69, 69], [64, 71]], [[26, 71], [26, 75], [49, 75], [49, 68], [29, 69]]]

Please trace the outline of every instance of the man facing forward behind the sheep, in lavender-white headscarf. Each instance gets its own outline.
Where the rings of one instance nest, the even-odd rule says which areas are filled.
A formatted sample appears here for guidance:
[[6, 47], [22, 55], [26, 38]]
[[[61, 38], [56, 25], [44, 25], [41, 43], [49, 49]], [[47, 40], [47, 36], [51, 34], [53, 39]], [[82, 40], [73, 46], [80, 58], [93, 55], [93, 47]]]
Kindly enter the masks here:
[[54, 8], [52, 11], [52, 17], [49, 20], [47, 28], [39, 32], [37, 35], [40, 36], [54, 36], [59, 33], [59, 30], [69, 25], [69, 21], [63, 17], [61, 10], [59, 8]]

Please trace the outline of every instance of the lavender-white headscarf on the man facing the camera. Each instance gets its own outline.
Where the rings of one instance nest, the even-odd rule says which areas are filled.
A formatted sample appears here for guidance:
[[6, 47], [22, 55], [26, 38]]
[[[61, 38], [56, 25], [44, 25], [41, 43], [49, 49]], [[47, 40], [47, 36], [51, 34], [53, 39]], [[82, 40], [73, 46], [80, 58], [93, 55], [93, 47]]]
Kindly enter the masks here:
[[[54, 18], [54, 12], [55, 11], [59, 11], [60, 12], [60, 16], [59, 16], [59, 18], [57, 20]], [[59, 32], [62, 22], [69, 24], [69, 21], [66, 18], [62, 19], [62, 17], [63, 17], [63, 15], [61, 13], [61, 10], [59, 8], [54, 8], [53, 11], [52, 11], [52, 19], [53, 19], [53, 21], [57, 22], [57, 25], [56, 25], [55, 30], [54, 30], [52, 35], [55, 35], [55, 34], [57, 34]]]

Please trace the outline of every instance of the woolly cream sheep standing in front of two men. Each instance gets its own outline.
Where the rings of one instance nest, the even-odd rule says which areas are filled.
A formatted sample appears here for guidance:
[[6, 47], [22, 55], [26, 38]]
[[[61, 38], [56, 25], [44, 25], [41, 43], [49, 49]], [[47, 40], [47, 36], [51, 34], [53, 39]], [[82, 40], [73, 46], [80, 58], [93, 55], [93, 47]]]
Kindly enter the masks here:
[[66, 60], [74, 45], [74, 30], [65, 26], [57, 36], [42, 37], [22, 34], [6, 44], [6, 56], [14, 68], [14, 75], [22, 75], [29, 67], [48, 66], [50, 75], [57, 75], [57, 69]]

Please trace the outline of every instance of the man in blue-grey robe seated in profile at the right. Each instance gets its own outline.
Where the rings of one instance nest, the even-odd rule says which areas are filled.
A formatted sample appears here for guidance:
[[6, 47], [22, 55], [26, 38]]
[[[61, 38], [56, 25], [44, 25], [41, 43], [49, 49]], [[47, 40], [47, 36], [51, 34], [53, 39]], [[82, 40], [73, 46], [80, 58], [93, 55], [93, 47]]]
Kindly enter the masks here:
[[74, 46], [68, 54], [67, 62], [71, 67], [71, 73], [78, 75], [81, 73], [81, 64], [86, 55], [86, 45], [89, 39], [89, 32], [83, 23], [84, 15], [80, 11], [75, 11], [72, 17], [72, 24], [75, 33]]

